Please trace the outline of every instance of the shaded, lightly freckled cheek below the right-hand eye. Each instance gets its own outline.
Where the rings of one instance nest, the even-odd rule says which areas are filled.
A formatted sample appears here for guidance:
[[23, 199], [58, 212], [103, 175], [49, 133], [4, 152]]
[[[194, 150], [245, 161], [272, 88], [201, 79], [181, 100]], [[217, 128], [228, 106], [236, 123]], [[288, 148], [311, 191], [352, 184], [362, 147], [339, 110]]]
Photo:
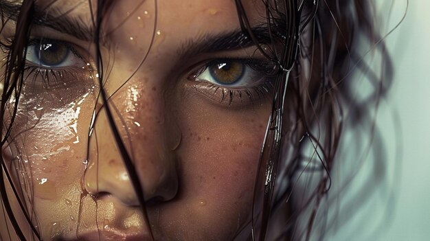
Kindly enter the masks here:
[[181, 190], [173, 204], [180, 218], [169, 221], [194, 230], [196, 237], [229, 240], [250, 220], [269, 104], [232, 109], [199, 96], [187, 97], [183, 104], [188, 107], [177, 118], [183, 130]]

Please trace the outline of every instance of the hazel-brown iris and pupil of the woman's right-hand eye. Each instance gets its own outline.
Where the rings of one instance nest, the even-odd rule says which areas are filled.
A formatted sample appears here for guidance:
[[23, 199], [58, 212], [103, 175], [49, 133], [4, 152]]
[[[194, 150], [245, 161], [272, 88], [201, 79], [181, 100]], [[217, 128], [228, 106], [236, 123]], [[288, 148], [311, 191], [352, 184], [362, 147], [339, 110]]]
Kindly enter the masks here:
[[245, 73], [245, 66], [238, 61], [214, 62], [207, 67], [210, 75], [218, 84], [234, 84], [238, 82]]

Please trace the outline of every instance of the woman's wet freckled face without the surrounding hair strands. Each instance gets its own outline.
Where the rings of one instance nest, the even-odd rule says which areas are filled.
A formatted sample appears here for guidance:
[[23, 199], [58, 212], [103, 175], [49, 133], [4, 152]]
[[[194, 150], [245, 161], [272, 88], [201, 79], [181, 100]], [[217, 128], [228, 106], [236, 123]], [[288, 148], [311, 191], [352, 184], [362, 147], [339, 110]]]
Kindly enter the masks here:
[[[262, 25], [262, 3], [242, 2], [251, 25]], [[272, 81], [268, 61], [240, 34], [234, 1], [113, 1], [100, 25], [99, 73], [89, 30], [96, 2], [50, 3], [37, 1], [3, 150], [43, 240], [150, 240], [150, 229], [155, 240], [233, 239], [251, 220]], [[9, 21], [2, 43], [13, 32]]]

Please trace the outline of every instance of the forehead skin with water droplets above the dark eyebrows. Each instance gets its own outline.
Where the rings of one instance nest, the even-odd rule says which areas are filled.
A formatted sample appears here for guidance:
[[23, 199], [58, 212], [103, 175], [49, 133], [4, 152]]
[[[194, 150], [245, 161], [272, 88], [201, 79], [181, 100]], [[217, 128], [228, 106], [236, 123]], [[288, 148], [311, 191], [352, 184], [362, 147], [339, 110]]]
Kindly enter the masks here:
[[[102, 33], [148, 35], [154, 27], [165, 34], [199, 36], [208, 32], [231, 32], [238, 29], [239, 18], [234, 0], [122, 0], [101, 1], [109, 8], [103, 14]], [[84, 27], [93, 27], [97, 0], [36, 1], [38, 12], [58, 19], [78, 19]], [[242, 1], [251, 25], [264, 23], [262, 1]], [[139, 27], [139, 28], [137, 28]], [[179, 35], [178, 35], [179, 34]]]

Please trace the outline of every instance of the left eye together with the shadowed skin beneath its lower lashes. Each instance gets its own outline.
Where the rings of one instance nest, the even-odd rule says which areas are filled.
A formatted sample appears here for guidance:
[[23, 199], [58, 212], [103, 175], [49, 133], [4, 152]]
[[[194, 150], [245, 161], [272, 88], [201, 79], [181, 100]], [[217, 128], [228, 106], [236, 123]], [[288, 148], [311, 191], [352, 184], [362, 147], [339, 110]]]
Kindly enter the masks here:
[[93, 64], [83, 48], [52, 38], [32, 38], [25, 51], [24, 94], [59, 107], [94, 91]]

